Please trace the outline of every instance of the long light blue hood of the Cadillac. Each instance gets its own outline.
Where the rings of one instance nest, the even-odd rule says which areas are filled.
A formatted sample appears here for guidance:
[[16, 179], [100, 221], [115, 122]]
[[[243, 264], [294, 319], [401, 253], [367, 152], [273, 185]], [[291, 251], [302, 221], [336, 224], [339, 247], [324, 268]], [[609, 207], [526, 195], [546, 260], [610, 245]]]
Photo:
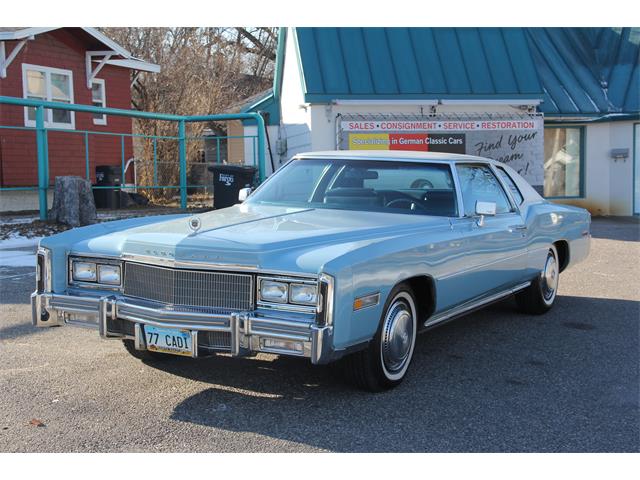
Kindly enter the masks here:
[[442, 217], [251, 204], [196, 216], [195, 231], [190, 216], [179, 216], [86, 238], [72, 251], [317, 272], [353, 249], [416, 228], [449, 226]]

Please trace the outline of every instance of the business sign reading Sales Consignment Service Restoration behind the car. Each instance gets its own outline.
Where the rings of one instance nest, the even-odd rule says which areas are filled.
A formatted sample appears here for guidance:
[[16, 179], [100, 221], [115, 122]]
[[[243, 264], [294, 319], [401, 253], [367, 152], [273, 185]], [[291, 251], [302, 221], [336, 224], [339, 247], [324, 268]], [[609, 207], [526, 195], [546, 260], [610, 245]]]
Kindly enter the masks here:
[[427, 120], [358, 118], [340, 121], [341, 150], [464, 153], [509, 164], [534, 187], [544, 182], [542, 115], [524, 118]]

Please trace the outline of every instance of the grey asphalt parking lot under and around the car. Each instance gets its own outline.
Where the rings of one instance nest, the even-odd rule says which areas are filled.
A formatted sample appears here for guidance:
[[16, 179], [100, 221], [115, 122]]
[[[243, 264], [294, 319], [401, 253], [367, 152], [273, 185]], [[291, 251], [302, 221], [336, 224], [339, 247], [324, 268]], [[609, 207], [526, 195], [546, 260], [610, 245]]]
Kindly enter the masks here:
[[2, 266], [0, 451], [637, 452], [640, 226], [592, 230], [550, 313], [508, 300], [432, 330], [381, 394], [296, 359], [160, 369], [97, 331], [36, 329], [33, 268]]

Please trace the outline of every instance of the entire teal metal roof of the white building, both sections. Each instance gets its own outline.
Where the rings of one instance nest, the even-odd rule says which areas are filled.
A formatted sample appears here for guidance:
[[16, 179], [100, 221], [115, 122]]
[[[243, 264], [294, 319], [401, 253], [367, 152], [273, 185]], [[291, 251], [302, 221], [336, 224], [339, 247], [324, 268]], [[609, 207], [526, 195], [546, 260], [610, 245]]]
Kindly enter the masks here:
[[640, 112], [640, 28], [305, 27], [292, 37], [309, 103], [473, 98], [541, 101], [558, 118]]

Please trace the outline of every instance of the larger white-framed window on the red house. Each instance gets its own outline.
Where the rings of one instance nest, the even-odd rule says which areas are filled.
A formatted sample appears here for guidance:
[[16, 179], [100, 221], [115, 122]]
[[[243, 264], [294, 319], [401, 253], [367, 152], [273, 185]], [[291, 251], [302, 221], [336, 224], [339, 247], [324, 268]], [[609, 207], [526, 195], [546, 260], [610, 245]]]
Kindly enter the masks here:
[[[61, 68], [22, 64], [24, 98], [50, 102], [73, 103], [73, 73]], [[45, 125], [49, 128], [75, 128], [74, 112], [45, 109]], [[25, 107], [24, 124], [36, 126], [36, 109]]]

